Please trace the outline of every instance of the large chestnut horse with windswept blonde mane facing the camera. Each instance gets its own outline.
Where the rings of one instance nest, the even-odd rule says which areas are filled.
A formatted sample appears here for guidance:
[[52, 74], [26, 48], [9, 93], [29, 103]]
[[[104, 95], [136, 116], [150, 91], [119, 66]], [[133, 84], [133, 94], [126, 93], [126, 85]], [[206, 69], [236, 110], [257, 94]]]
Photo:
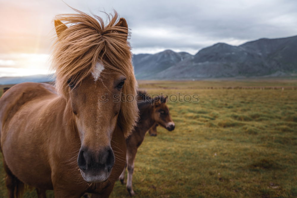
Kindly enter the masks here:
[[0, 99], [8, 197], [24, 184], [38, 197], [47, 189], [56, 198], [108, 197], [125, 166], [125, 137], [138, 119], [137, 102], [114, 100], [136, 96], [127, 22], [75, 11], [55, 20], [56, 88], [21, 83]]

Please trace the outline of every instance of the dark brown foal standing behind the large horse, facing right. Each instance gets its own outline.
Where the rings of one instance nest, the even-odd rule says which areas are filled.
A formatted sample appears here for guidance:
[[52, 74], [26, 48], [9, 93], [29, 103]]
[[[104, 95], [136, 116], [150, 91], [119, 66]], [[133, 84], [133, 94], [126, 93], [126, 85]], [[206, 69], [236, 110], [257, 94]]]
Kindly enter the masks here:
[[[175, 124], [172, 121], [168, 106], [166, 105], [165, 96], [156, 96], [153, 99], [147, 96], [145, 92], [138, 91], [138, 109], [140, 113], [140, 119], [132, 131], [132, 134], [126, 139], [127, 144], [127, 190], [130, 196], [135, 193], [132, 189], [132, 175], [134, 171], [134, 160], [138, 147], [144, 140], [146, 132], [155, 124], [158, 124], [168, 131], [172, 131], [175, 128]], [[119, 180], [124, 184], [126, 166], [119, 177]]]

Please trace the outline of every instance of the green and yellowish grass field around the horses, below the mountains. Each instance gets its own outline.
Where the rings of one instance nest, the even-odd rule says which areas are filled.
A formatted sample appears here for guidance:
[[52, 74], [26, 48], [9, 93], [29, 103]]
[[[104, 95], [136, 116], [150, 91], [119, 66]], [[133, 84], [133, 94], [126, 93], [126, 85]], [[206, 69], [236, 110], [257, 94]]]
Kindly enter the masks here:
[[[285, 89], [218, 89], [236, 86]], [[199, 102], [169, 102], [176, 129], [158, 127], [157, 137], [146, 136], [135, 161], [136, 197], [297, 197], [297, 80], [140, 81], [139, 87], [199, 94]], [[0, 178], [6, 197], [3, 168]], [[127, 196], [117, 182], [111, 197]]]

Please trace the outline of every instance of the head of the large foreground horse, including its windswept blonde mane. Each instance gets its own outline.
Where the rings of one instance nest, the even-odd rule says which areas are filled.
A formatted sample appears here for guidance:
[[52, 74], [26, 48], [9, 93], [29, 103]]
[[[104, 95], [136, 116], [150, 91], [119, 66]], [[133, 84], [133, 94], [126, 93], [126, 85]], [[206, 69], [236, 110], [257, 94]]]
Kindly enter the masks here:
[[116, 125], [127, 137], [137, 120], [136, 102], [120, 100], [124, 94], [136, 95], [137, 83], [126, 20], [117, 20], [115, 13], [105, 25], [98, 16], [76, 11], [79, 14], [55, 20], [56, 89], [67, 99], [80, 137], [77, 162], [82, 177], [103, 182], [115, 162], [110, 141]]

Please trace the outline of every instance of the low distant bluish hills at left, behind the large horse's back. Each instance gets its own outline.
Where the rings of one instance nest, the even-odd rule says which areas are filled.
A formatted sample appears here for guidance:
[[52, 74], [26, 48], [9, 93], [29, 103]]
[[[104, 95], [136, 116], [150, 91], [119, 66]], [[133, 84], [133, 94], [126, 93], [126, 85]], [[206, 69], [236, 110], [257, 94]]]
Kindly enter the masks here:
[[0, 85], [17, 84], [24, 82], [50, 82], [53, 81], [53, 75], [34, 75], [22, 77], [0, 77]]

